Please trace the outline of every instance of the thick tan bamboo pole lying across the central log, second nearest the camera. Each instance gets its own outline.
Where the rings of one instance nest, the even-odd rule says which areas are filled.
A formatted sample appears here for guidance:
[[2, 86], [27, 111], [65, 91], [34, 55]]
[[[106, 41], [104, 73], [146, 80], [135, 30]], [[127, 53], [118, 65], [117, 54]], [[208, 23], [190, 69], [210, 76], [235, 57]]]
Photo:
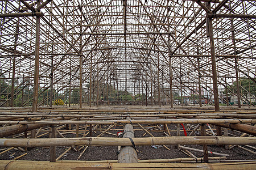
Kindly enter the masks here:
[[[256, 145], [256, 137], [150, 137], [132, 138], [136, 146], [144, 145]], [[48, 147], [48, 146], [132, 146], [129, 138], [45, 138], [0, 139], [0, 146]]]

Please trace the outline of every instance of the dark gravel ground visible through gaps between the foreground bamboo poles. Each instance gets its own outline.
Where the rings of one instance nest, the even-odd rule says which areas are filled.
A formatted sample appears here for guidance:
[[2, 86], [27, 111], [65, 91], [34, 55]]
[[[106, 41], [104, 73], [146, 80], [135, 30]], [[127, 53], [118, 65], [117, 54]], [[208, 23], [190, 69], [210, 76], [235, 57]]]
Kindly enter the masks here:
[[[162, 126], [162, 125], [160, 125]], [[103, 128], [103, 126], [102, 126]], [[105, 126], [107, 129], [108, 126]], [[122, 129], [122, 126], [117, 126], [116, 128]], [[170, 130], [176, 130], [175, 125], [168, 125]], [[88, 128], [89, 129], [89, 128]], [[134, 127], [134, 129], [139, 129], [139, 127]], [[182, 126], [180, 126], [182, 129]], [[64, 128], [61, 130], [65, 130]], [[111, 130], [110, 133], [117, 134], [119, 130]], [[150, 131], [150, 129], [148, 129]], [[97, 133], [95, 133], [97, 132]], [[100, 134], [100, 131], [93, 132], [93, 137], [96, 137]], [[41, 132], [43, 134], [45, 132]], [[145, 131], [135, 131], [135, 137], [142, 137]], [[164, 134], [162, 132], [151, 131], [152, 135], [155, 137], [162, 137]], [[189, 133], [188, 133], [189, 134]], [[176, 135], [175, 131], [171, 131], [171, 135]], [[183, 131], [180, 131], [180, 135], [184, 136]], [[197, 135], [200, 135], [199, 133]], [[65, 137], [75, 137], [75, 134], [64, 134]], [[57, 135], [59, 137], [59, 135]], [[105, 134], [103, 137], [114, 137], [111, 134]], [[150, 137], [150, 135], [146, 134], [144, 137]], [[42, 138], [48, 138], [48, 135], [44, 135]], [[173, 159], [173, 158], [188, 158], [183, 152], [179, 151], [177, 146], [167, 146], [170, 150], [160, 146], [159, 148], [154, 148], [152, 146], [137, 146], [138, 152], [138, 159], [139, 160], [146, 160], [146, 159]], [[187, 147], [191, 148], [198, 148], [203, 150], [203, 146], [200, 145], [187, 145]], [[254, 146], [255, 147], [255, 146]], [[2, 149], [1, 147], [0, 149]], [[56, 157], [61, 155], [65, 150], [67, 150], [68, 146], [56, 147]], [[80, 147], [79, 147], [80, 148]], [[117, 160], [117, 149], [118, 146], [89, 146], [85, 151], [84, 155], [80, 158], [80, 160]], [[82, 149], [84, 150], [84, 149]], [[67, 154], [65, 154], [60, 160], [77, 160], [79, 155], [81, 154], [82, 150], [75, 151], [70, 150]], [[253, 149], [250, 149], [255, 151]], [[248, 151], [242, 150], [241, 148], [234, 147], [232, 150], [225, 150], [224, 146], [208, 146], [208, 151], [218, 152], [222, 154], [229, 154], [230, 156], [227, 159], [230, 160], [250, 160], [255, 159], [255, 155], [251, 154]], [[38, 161], [49, 161], [49, 147], [34, 147], [34, 148], [27, 148], [27, 155], [23, 156], [19, 160], [38, 160]], [[197, 157], [202, 157], [203, 153], [191, 151]], [[0, 155], [1, 160], [11, 160], [14, 159], [16, 156], [22, 155], [25, 152], [20, 150], [10, 150], [4, 154]], [[213, 154], [209, 154], [209, 156], [217, 156]]]

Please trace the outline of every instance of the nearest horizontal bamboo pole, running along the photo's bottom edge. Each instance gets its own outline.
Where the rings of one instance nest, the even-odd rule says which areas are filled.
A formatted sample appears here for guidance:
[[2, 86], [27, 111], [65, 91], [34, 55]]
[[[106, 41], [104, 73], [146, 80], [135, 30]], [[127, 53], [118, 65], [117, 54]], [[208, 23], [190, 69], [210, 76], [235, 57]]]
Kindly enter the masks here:
[[80, 163], [0, 160], [0, 169], [255, 169], [256, 162], [239, 163]]

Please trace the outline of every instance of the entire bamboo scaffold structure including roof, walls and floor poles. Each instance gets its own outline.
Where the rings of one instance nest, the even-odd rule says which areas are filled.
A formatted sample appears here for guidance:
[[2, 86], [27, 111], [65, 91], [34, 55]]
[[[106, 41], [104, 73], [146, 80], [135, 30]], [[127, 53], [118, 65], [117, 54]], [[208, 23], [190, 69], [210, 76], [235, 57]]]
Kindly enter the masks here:
[[[3, 153], [49, 146], [51, 166], [83, 149], [79, 160], [90, 145], [131, 146], [129, 138], [102, 137], [125, 124], [152, 137], [133, 138], [135, 145], [178, 145], [191, 157], [179, 161], [197, 160], [181, 145], [203, 145], [207, 163], [218, 159], [208, 158], [207, 145], [255, 149], [255, 1], [14, 0], [0, 6], [0, 146], [11, 147]], [[168, 137], [146, 129], [158, 124], [163, 129], [152, 131]], [[177, 129], [168, 129], [172, 124]], [[189, 136], [201, 127], [202, 137], [179, 137], [180, 124], [193, 128]], [[93, 131], [100, 135], [85, 138]], [[5, 139], [10, 135], [35, 139]], [[44, 135], [50, 138], [36, 139]], [[56, 146], [63, 145], [69, 148], [56, 159]], [[113, 161], [112, 168], [122, 168]], [[30, 162], [0, 161], [12, 164], [28, 168]], [[221, 167], [229, 165], [216, 164]]]

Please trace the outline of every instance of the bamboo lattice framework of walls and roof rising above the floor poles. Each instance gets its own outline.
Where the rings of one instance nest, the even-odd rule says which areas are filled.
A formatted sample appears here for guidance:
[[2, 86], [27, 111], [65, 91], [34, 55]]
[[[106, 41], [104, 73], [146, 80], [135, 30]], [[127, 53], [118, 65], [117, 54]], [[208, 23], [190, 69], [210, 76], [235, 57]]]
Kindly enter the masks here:
[[2, 106], [255, 103], [254, 1], [1, 6]]

